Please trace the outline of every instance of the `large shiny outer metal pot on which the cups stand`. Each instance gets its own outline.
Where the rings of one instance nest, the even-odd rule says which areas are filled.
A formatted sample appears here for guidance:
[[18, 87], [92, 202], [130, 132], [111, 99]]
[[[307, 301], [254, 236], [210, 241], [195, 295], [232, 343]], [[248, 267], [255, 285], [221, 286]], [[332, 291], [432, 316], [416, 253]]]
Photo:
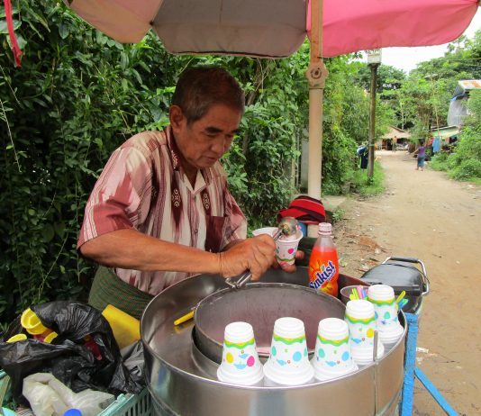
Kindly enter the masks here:
[[[351, 278], [349, 284], [356, 281]], [[307, 271], [301, 267], [291, 275], [272, 270], [262, 282], [307, 286]], [[403, 385], [405, 329], [402, 339], [384, 357], [339, 379], [296, 387], [242, 387], [218, 381], [217, 364], [195, 347], [194, 321], [179, 327], [173, 321], [206, 296], [224, 288], [227, 285], [220, 276], [195, 276], [157, 295], [143, 313], [141, 338], [156, 414], [395, 414]], [[405, 327], [404, 315], [401, 319]]]

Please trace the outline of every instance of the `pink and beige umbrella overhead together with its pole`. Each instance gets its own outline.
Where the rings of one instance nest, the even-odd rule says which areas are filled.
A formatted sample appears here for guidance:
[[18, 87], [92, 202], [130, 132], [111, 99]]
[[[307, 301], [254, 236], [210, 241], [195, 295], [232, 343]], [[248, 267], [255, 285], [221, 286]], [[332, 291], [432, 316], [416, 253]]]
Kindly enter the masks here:
[[314, 198], [321, 196], [322, 91], [327, 77], [322, 57], [453, 41], [478, 5], [477, 0], [65, 1], [117, 41], [138, 42], [153, 29], [173, 53], [281, 58], [309, 36], [308, 194]]

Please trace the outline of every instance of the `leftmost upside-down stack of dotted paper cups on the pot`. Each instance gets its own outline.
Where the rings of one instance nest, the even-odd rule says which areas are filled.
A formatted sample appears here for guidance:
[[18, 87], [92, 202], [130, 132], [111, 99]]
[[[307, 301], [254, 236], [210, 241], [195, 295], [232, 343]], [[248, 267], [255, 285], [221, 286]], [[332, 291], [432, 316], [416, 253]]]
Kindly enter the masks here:
[[230, 323], [224, 330], [222, 363], [217, 369], [217, 378], [225, 383], [253, 385], [263, 377], [252, 325]]

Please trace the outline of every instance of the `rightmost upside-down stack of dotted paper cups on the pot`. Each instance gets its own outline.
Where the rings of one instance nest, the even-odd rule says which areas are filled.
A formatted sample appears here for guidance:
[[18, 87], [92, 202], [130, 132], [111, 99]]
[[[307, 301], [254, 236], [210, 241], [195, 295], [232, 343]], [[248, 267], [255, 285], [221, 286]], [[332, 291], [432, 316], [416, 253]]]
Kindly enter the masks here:
[[404, 332], [403, 326], [397, 319], [394, 289], [388, 285], [369, 286], [368, 301], [374, 305], [379, 339], [386, 347], [393, 347]]

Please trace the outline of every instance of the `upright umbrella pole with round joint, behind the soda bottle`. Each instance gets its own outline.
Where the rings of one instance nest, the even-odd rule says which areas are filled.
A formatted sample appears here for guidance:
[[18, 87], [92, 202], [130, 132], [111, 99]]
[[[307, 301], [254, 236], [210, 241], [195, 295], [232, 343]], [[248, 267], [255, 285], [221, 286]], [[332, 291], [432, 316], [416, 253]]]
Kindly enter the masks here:
[[[305, 72], [309, 82], [309, 158], [307, 194], [321, 199], [322, 187], [322, 99], [328, 70], [322, 62], [322, 0], [311, 0], [311, 62]], [[309, 237], [317, 236], [315, 224]]]

